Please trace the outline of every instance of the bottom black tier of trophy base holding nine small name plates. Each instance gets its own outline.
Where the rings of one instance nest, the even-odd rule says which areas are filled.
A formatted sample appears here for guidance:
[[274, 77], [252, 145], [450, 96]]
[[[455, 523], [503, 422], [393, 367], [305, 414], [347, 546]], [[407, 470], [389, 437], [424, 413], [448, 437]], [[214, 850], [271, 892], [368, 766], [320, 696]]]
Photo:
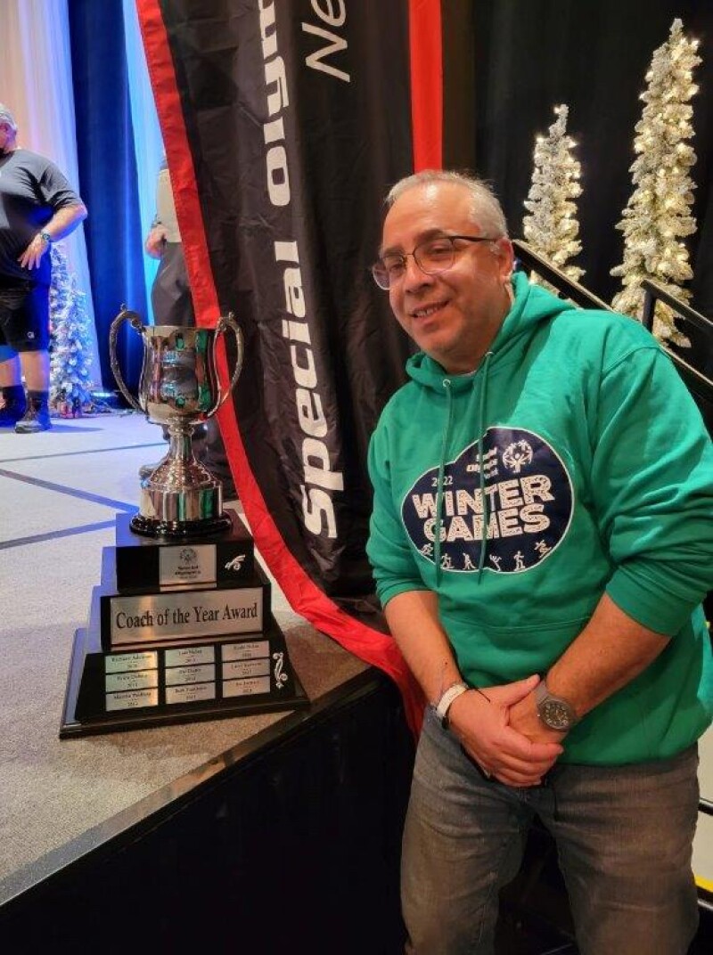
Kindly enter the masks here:
[[142, 730], [310, 705], [274, 619], [259, 633], [210, 643], [105, 653], [75, 632], [59, 738]]

